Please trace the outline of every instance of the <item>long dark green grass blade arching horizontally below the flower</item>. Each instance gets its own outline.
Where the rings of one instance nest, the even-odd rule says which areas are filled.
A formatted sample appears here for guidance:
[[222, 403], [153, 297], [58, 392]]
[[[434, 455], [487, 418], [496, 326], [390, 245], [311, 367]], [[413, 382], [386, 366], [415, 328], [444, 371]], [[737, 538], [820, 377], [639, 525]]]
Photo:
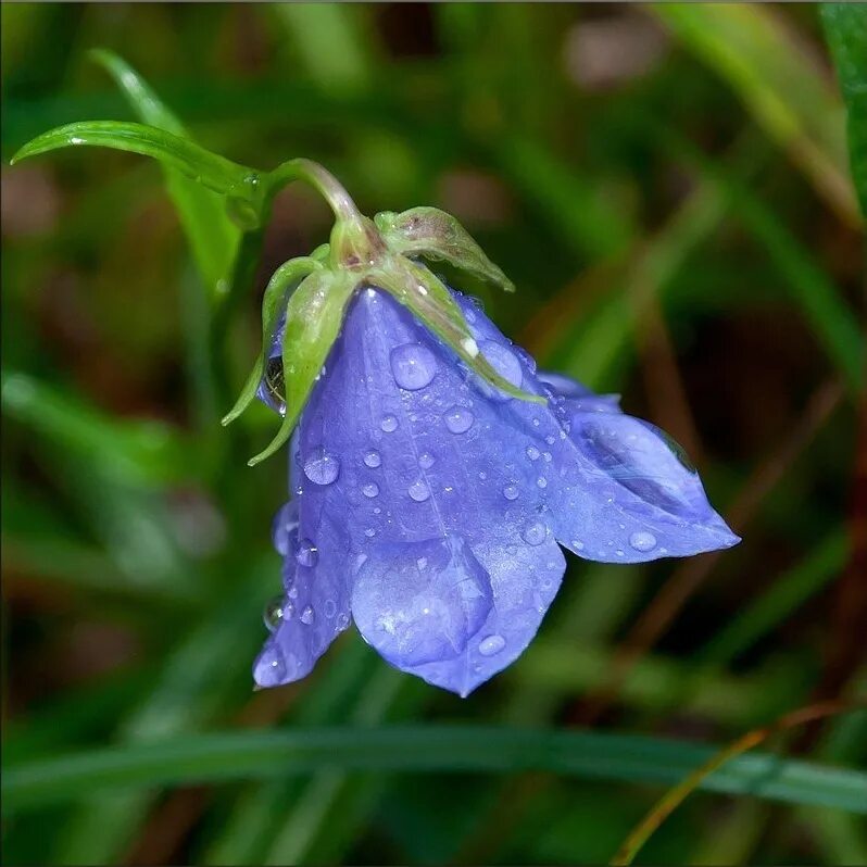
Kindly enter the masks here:
[[[105, 790], [286, 778], [325, 768], [379, 772], [515, 772], [670, 784], [713, 746], [643, 736], [462, 726], [197, 733], [7, 766], [3, 809], [34, 809]], [[867, 774], [751, 753], [701, 788], [867, 814]]]

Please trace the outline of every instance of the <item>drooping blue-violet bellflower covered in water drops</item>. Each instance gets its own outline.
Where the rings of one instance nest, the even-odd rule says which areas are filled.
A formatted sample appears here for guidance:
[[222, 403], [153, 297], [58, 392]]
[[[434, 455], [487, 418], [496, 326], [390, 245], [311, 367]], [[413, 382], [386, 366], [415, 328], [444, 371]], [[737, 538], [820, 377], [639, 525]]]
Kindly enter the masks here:
[[388, 663], [465, 696], [532, 640], [561, 546], [640, 563], [739, 541], [662, 430], [537, 372], [475, 299], [452, 297], [470, 355], [543, 402], [489, 385], [388, 292], [353, 296], [290, 447], [260, 687], [307, 675], [354, 620]]

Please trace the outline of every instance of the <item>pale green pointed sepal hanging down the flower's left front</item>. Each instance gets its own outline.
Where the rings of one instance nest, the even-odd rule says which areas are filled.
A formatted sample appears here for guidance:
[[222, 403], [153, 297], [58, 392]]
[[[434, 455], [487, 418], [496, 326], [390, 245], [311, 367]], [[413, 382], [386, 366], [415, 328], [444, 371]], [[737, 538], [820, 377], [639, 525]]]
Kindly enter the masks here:
[[271, 444], [247, 463], [271, 457], [290, 437], [313, 386], [343, 325], [343, 314], [357, 285], [343, 272], [319, 268], [302, 280], [286, 307], [282, 375], [286, 412]]

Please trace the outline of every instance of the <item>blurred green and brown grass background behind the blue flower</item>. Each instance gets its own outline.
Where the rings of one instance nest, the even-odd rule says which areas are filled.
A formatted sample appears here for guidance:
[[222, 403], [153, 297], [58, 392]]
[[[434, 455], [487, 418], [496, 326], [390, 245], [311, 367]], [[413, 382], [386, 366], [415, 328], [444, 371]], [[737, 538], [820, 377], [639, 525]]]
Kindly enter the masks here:
[[[570, 557], [537, 641], [465, 701], [354, 630], [306, 680], [253, 693], [285, 458], [246, 466], [274, 429], [264, 409], [217, 419], [259, 349], [267, 277], [330, 217], [282, 193], [249, 288], [217, 309], [155, 163], [79, 149], [10, 168], [49, 127], [135, 120], [96, 47], [211, 150], [318, 160], [368, 214], [454, 213], [518, 292], [465, 288], [540, 364], [673, 434], [743, 543], [641, 567]], [[23, 774], [5, 863], [602, 862], [695, 764], [692, 742], [867, 694], [863, 236], [815, 7], [7, 3], [2, 79], [3, 757]], [[774, 745], [863, 767], [865, 716]], [[427, 772], [391, 772], [398, 724], [432, 739]], [[497, 729], [506, 772], [455, 774], [445, 724]], [[545, 763], [500, 749], [515, 727], [589, 730], [611, 762], [526, 772]], [[324, 729], [303, 772], [235, 749]], [[237, 736], [222, 771], [185, 769], [217, 731]], [[648, 738], [668, 745], [656, 777], [638, 769]], [[151, 742], [174, 745], [162, 770], [93, 784], [102, 747]], [[699, 793], [640, 860], [867, 863], [867, 831]]]

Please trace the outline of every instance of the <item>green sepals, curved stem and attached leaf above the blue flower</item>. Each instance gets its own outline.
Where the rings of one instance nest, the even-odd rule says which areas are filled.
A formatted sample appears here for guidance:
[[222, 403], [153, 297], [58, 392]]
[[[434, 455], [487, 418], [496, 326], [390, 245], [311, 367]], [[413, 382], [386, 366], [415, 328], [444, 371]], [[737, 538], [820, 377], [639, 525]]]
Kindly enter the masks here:
[[[215, 201], [222, 198], [222, 218], [227, 227], [234, 225], [236, 233], [265, 225], [274, 197], [294, 180], [312, 186], [334, 212], [330, 243], [281, 265], [265, 289], [262, 350], [235, 406], [223, 418], [224, 425], [235, 420], [263, 381], [281, 407], [284, 417], [276, 437], [250, 460], [250, 465], [264, 461], [289, 439], [340, 334], [350, 300], [365, 287], [389, 292], [492, 387], [518, 400], [544, 402], [498, 374], [479, 351], [451, 292], [422, 262], [445, 262], [466, 275], [514, 291], [508, 278], [453, 216], [436, 208], [414, 208], [369, 219], [359, 212], [334, 175], [311, 160], [290, 160], [273, 172], [226, 160], [193, 142], [155, 97], [141, 89], [147, 86], [120, 59], [105, 52], [98, 59], [115, 77], [129, 87], [135, 85], [133, 96], [139, 108], [143, 106], [142, 120], [149, 123], [68, 124], [25, 144], [13, 162], [70, 146], [106, 147], [152, 156], [167, 173], [174, 173], [172, 177], [181, 177], [192, 188], [205, 188]], [[268, 351], [281, 322], [281, 356], [269, 360]]]

